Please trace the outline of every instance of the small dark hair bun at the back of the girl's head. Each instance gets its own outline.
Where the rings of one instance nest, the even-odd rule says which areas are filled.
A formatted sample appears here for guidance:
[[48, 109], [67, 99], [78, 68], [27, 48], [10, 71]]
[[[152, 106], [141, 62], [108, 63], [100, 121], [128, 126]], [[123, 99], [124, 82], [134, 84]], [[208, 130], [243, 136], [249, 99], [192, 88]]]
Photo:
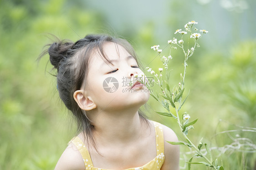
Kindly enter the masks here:
[[73, 45], [73, 42], [55, 42], [52, 43], [48, 49], [50, 55], [51, 65], [54, 68], [59, 69], [61, 60], [68, 58], [70, 56], [70, 49]]

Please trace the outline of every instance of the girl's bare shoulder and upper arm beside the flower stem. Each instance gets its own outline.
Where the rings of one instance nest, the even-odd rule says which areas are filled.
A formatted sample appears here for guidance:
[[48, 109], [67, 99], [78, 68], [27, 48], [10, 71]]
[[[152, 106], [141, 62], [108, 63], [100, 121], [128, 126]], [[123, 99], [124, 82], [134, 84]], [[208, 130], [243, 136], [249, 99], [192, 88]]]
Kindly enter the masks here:
[[164, 165], [161, 170], [179, 170], [179, 145], [171, 145], [167, 141], [178, 142], [178, 137], [172, 129], [162, 125], [164, 131]]

